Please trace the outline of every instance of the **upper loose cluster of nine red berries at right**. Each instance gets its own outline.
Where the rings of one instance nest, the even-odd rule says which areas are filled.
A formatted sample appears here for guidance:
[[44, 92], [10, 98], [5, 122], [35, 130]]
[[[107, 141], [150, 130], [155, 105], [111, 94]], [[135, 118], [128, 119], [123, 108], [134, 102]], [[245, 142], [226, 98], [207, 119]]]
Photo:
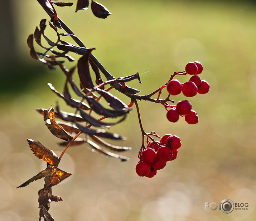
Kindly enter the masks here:
[[[203, 66], [200, 62], [189, 62], [185, 67], [187, 74], [193, 75], [189, 81], [181, 84], [177, 79], [169, 81], [167, 84], [167, 91], [171, 95], [177, 95], [183, 93], [186, 97], [193, 97], [197, 93], [205, 94], [209, 91], [210, 85], [207, 81], [201, 81], [198, 74], [203, 71]], [[192, 105], [189, 101], [183, 100], [177, 103], [177, 106], [173, 106], [166, 114], [167, 119], [170, 122], [177, 122], [179, 116], [185, 117], [185, 121], [188, 124], [198, 123], [198, 115], [195, 111], [191, 110]]]

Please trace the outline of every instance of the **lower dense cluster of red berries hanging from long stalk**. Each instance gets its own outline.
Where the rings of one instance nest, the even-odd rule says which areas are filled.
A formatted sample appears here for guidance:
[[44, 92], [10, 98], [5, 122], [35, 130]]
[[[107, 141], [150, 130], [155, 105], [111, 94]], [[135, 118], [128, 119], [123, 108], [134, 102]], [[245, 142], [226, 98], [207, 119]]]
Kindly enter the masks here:
[[142, 152], [140, 151], [136, 173], [139, 176], [152, 178], [157, 170], [166, 166], [167, 161], [177, 158], [181, 145], [180, 138], [171, 134], [165, 134], [160, 141], [150, 142]]

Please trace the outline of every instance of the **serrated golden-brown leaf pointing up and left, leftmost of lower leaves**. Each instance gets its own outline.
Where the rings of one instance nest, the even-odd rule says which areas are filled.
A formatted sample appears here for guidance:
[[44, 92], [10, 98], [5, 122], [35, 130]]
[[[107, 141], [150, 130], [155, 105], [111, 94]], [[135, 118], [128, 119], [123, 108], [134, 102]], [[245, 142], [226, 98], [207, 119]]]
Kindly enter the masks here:
[[38, 141], [34, 141], [32, 139], [27, 139], [27, 141], [35, 156], [37, 156], [41, 160], [46, 161], [52, 166], [58, 166], [60, 160], [52, 150], [44, 147]]

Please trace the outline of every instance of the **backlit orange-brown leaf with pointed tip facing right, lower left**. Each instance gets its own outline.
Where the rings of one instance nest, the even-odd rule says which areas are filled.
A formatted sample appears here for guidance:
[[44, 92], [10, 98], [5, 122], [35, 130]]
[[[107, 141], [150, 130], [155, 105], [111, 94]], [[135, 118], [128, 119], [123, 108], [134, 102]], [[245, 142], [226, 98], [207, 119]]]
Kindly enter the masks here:
[[62, 180], [68, 178], [71, 173], [67, 173], [57, 167], [46, 168], [46, 175], [44, 178], [46, 187], [54, 186], [60, 183]]

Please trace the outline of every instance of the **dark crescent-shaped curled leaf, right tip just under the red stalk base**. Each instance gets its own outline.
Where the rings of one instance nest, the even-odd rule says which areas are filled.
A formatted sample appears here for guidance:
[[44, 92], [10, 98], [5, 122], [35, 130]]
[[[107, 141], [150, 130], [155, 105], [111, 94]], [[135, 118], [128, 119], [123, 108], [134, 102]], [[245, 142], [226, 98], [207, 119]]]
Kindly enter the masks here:
[[93, 99], [91, 96], [88, 96], [86, 100], [93, 111], [106, 117], [119, 117], [130, 112], [129, 108], [119, 110], [107, 109], [103, 107], [98, 101]]

